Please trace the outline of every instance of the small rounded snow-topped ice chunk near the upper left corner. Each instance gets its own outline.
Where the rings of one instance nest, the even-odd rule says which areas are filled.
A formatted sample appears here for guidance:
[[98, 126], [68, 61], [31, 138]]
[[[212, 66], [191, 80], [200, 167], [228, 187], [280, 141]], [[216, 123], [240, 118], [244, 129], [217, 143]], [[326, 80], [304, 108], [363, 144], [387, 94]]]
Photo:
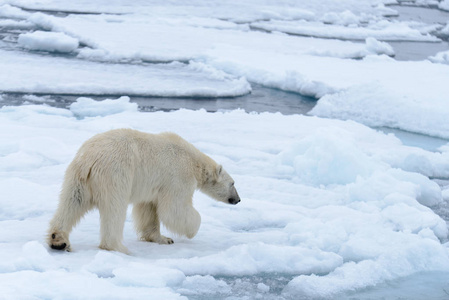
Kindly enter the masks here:
[[38, 51], [68, 53], [76, 50], [79, 41], [62, 32], [35, 31], [19, 35], [20, 46]]

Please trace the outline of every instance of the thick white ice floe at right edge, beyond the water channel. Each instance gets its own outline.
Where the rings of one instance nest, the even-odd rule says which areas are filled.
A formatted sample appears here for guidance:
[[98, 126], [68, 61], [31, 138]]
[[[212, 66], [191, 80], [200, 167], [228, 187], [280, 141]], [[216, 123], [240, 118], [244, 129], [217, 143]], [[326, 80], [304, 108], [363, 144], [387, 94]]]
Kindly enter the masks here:
[[449, 138], [447, 66], [369, 57], [347, 67], [340, 78], [351, 77], [353, 84], [322, 97], [311, 114]]

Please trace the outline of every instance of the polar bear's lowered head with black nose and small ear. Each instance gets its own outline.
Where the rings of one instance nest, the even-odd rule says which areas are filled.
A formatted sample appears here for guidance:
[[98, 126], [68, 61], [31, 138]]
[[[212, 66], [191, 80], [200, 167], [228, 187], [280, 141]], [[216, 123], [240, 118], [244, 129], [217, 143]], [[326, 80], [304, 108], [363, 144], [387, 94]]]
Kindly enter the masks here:
[[224, 203], [235, 205], [240, 202], [239, 194], [234, 186], [234, 180], [221, 165], [217, 165], [214, 172], [209, 176], [211, 178], [202, 186], [202, 192]]

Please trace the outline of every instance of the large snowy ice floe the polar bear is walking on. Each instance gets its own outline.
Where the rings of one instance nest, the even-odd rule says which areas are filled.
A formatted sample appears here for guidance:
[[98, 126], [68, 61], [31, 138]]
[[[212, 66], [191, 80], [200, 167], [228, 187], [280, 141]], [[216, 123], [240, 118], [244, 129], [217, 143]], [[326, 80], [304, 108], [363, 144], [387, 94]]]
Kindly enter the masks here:
[[[443, 201], [442, 192], [420, 174], [426, 161], [427, 171], [448, 176], [447, 148], [406, 147], [353, 121], [239, 110], [140, 113], [127, 98], [80, 98], [70, 111], [5, 106], [0, 124], [7, 299], [225, 297], [238, 284], [226, 278], [259, 274], [290, 278], [278, 296], [337, 297], [449, 268], [448, 228], [427, 207]], [[121, 127], [181, 134], [234, 176], [242, 203], [195, 194], [200, 231], [192, 240], [175, 236], [174, 245], [138, 241], [129, 215], [131, 256], [96, 248], [93, 212], [72, 233], [74, 252], [49, 250], [44, 235], [65, 168], [84, 140]], [[256, 282], [248, 295], [269, 294], [267, 283]]]

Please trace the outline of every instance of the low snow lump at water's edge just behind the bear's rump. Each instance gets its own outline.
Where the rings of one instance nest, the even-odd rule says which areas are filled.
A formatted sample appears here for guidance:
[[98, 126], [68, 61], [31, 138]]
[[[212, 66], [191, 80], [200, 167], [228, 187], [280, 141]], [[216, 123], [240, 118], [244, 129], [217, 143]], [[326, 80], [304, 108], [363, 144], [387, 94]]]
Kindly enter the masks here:
[[130, 103], [129, 101], [129, 97], [126, 96], [118, 99], [106, 99], [103, 101], [81, 97], [78, 98], [76, 102], [70, 104], [70, 111], [78, 118], [104, 117], [122, 112], [137, 111], [137, 104]]

